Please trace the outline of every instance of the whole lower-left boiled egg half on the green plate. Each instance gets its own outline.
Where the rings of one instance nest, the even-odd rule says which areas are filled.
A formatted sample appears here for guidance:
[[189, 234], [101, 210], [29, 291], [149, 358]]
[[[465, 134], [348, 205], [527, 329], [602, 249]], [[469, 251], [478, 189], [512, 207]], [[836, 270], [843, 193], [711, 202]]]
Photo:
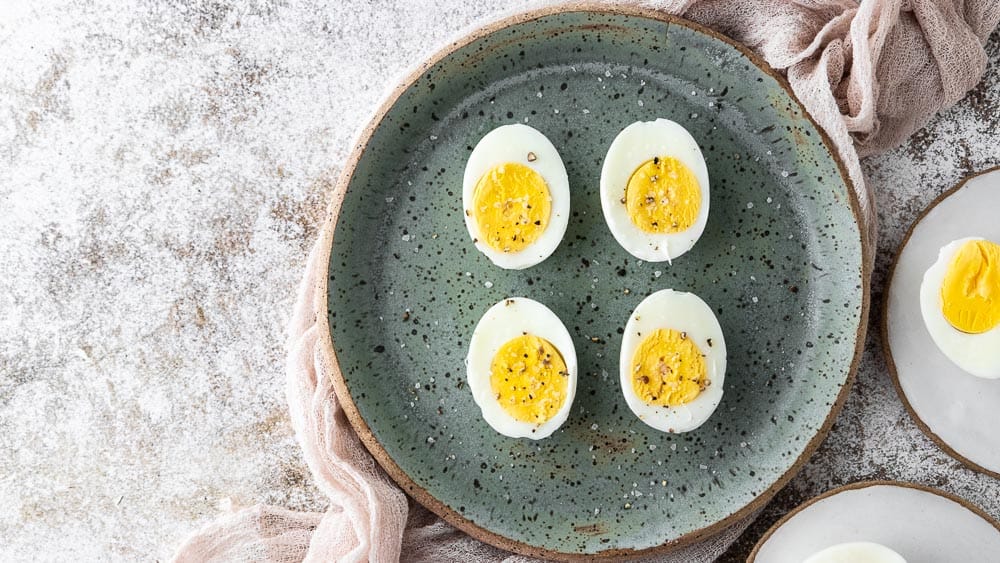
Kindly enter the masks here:
[[472, 398], [494, 430], [540, 440], [569, 416], [576, 396], [576, 349], [548, 307], [511, 297], [490, 307], [469, 340]]

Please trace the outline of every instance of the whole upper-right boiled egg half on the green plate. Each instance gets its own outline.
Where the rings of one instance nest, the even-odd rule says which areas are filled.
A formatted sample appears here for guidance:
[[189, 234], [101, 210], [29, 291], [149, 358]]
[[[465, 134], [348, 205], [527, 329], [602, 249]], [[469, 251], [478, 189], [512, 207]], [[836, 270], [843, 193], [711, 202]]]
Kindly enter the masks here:
[[708, 168], [697, 141], [669, 119], [615, 137], [601, 168], [601, 208], [615, 240], [647, 262], [672, 261], [708, 222]]

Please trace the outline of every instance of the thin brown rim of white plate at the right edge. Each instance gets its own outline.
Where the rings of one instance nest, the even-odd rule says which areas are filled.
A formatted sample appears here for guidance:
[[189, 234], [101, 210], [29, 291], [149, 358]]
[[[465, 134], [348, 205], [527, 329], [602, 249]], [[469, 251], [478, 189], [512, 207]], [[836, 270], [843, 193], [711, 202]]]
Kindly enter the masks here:
[[934, 201], [930, 202], [927, 205], [927, 207], [920, 212], [920, 215], [918, 215], [917, 218], [913, 220], [913, 224], [911, 224], [910, 228], [906, 231], [906, 236], [903, 237], [903, 241], [899, 243], [899, 247], [896, 249], [896, 255], [892, 257], [892, 265], [889, 267], [889, 276], [886, 278], [885, 282], [885, 291], [882, 292], [882, 319], [881, 319], [882, 326], [879, 331], [880, 336], [882, 337], [882, 353], [885, 356], [886, 366], [889, 368], [889, 376], [890, 379], [892, 379], [892, 386], [896, 388], [896, 394], [899, 395], [899, 400], [902, 401], [903, 406], [906, 407], [906, 412], [910, 413], [910, 418], [913, 419], [913, 422], [917, 423], [917, 427], [920, 428], [920, 430], [922, 430], [923, 433], [926, 434], [927, 437], [930, 438], [935, 444], [937, 444], [939, 448], [944, 450], [944, 453], [962, 462], [962, 464], [968, 467], [969, 469], [977, 473], [989, 475], [994, 479], [1000, 479], [1000, 472], [986, 469], [985, 467], [979, 465], [978, 463], [975, 463], [969, 458], [956, 452], [954, 449], [952, 449], [951, 446], [948, 445], [947, 442], [942, 440], [940, 436], [935, 434], [934, 431], [931, 430], [929, 426], [927, 426], [927, 423], [925, 423], [923, 419], [920, 418], [920, 415], [917, 414], [917, 411], [913, 410], [913, 405], [910, 404], [910, 401], [906, 398], [906, 393], [903, 392], [903, 387], [899, 384], [899, 373], [896, 371], [896, 362], [892, 359], [892, 349], [889, 346], [888, 321], [889, 321], [889, 295], [890, 295], [889, 292], [892, 291], [892, 277], [896, 275], [896, 263], [899, 262], [899, 255], [902, 254], [903, 249], [906, 248], [906, 243], [910, 242], [910, 236], [913, 235], [913, 230], [917, 228], [917, 225], [919, 225], [920, 222], [923, 221], [924, 217], [926, 217], [927, 214], [931, 212], [931, 210], [937, 207], [938, 204], [941, 203], [942, 201], [948, 199], [948, 197], [950, 197], [952, 194], [965, 187], [965, 184], [968, 183], [969, 180], [997, 171], [1000, 171], [1000, 166], [987, 168], [986, 170], [975, 172], [973, 174], [969, 174], [968, 176], [962, 178], [957, 184], [955, 184], [955, 186], [949, 188], [947, 191], [934, 198]]

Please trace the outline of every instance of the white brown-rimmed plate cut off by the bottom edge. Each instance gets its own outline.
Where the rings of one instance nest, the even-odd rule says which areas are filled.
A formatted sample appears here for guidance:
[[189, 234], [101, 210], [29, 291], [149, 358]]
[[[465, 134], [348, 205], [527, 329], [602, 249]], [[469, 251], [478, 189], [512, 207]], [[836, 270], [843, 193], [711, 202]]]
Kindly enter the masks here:
[[895, 481], [853, 483], [788, 513], [757, 543], [748, 563], [801, 563], [848, 542], [880, 543], [911, 563], [995, 561], [1000, 524], [948, 493]]

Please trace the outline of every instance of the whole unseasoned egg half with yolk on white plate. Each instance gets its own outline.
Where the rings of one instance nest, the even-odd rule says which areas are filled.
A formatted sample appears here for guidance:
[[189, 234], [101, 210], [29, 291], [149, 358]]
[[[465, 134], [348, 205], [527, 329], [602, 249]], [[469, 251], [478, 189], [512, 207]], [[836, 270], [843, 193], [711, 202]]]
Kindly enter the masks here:
[[920, 283], [920, 314], [955, 365], [1000, 378], [1000, 244], [970, 237], [945, 245]]

